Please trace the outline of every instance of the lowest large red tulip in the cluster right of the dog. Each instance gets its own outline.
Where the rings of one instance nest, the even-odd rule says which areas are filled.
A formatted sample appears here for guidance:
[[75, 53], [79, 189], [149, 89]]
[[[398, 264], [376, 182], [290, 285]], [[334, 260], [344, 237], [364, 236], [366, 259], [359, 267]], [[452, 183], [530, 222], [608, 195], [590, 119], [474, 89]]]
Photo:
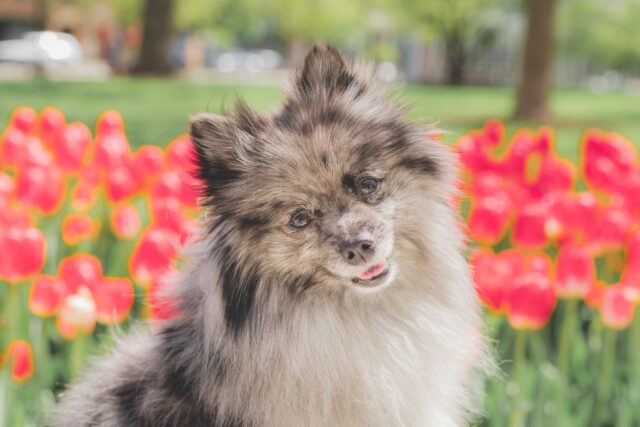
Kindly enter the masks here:
[[542, 329], [556, 306], [549, 277], [539, 272], [518, 276], [506, 301], [507, 319], [514, 329]]

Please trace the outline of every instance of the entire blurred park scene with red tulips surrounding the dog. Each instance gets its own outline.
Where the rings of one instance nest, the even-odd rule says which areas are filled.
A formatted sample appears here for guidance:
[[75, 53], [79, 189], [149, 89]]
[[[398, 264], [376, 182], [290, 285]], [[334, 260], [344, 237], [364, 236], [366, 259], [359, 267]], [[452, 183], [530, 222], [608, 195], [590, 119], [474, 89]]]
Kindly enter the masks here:
[[0, 426], [43, 425], [197, 221], [188, 117], [316, 41], [460, 155], [484, 426], [640, 426], [640, 0], [0, 0]]

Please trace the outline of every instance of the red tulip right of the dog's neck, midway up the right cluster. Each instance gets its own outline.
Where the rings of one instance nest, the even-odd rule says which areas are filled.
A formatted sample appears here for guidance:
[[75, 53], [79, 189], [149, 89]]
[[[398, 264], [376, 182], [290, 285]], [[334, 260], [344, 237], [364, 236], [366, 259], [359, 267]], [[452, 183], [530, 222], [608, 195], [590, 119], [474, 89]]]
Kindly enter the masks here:
[[479, 197], [473, 201], [469, 214], [469, 235], [482, 243], [497, 243], [502, 239], [511, 216], [511, 200], [505, 192]]

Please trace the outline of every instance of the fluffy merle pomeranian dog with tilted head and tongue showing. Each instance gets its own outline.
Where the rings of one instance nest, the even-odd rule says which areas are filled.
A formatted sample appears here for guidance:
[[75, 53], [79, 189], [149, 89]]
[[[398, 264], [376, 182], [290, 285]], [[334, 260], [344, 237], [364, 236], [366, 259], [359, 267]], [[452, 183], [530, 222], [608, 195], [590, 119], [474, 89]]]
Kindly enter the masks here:
[[284, 106], [191, 121], [181, 315], [120, 340], [57, 426], [461, 426], [490, 366], [453, 156], [317, 44]]

